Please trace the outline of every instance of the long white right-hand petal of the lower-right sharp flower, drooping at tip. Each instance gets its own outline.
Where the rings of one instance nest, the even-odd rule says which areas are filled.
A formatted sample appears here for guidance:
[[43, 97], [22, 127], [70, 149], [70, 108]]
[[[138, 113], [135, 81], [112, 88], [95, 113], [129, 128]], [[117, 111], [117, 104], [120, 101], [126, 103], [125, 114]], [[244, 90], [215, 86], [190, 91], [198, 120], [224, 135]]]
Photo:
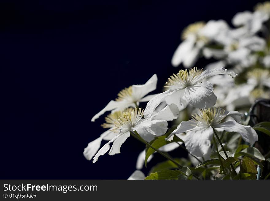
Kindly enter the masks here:
[[213, 127], [223, 128], [228, 132], [238, 132], [242, 136], [243, 140], [250, 143], [250, 146], [258, 140], [258, 135], [253, 128], [238, 124], [235, 121], [226, 121], [224, 123], [214, 125]]

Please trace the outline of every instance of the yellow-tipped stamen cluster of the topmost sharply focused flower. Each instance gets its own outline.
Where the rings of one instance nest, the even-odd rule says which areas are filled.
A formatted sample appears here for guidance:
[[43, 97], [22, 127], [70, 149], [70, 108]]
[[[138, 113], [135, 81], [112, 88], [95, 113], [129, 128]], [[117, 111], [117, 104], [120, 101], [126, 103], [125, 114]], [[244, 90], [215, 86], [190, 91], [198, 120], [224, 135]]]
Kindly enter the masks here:
[[164, 87], [179, 87], [184, 88], [191, 85], [191, 83], [203, 72], [203, 69], [193, 67], [191, 69], [179, 70], [177, 74], [173, 74], [166, 82]]

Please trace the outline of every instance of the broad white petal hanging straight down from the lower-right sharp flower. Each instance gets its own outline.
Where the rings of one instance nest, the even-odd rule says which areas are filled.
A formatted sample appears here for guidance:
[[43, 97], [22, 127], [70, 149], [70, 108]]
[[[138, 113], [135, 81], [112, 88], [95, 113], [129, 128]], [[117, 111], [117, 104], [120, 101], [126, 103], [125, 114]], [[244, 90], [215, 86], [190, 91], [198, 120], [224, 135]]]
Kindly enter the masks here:
[[207, 154], [211, 147], [213, 134], [214, 132], [212, 127], [195, 128], [188, 131], [184, 141], [187, 150], [197, 157], [202, 157]]

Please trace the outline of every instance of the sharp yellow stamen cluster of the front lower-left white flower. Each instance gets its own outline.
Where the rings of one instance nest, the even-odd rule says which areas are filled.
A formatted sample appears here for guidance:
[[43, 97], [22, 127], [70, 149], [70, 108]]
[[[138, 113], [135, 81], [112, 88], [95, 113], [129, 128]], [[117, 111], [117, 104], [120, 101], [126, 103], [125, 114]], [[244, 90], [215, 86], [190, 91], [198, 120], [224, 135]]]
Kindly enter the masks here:
[[112, 132], [128, 132], [134, 126], [136, 126], [143, 117], [143, 110], [141, 108], [124, 112], [121, 117], [115, 122]]

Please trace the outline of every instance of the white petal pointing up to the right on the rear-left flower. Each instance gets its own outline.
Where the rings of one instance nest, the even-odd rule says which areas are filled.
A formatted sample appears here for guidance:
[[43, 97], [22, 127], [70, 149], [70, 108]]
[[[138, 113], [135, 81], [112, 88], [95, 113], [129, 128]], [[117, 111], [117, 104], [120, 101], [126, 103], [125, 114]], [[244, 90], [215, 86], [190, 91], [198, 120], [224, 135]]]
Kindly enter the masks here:
[[156, 89], [157, 76], [154, 74], [145, 84], [132, 85], [132, 96], [137, 100]]

